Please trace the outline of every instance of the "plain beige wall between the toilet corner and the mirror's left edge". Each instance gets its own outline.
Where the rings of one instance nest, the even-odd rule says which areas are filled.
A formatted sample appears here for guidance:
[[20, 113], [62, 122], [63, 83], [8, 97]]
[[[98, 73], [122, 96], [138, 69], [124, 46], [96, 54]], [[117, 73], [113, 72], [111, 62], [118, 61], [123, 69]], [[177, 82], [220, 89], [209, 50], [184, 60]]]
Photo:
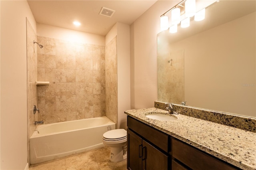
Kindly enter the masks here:
[[160, 15], [178, 1], [157, 1], [130, 26], [131, 108], [154, 107], [157, 101], [157, 34]]

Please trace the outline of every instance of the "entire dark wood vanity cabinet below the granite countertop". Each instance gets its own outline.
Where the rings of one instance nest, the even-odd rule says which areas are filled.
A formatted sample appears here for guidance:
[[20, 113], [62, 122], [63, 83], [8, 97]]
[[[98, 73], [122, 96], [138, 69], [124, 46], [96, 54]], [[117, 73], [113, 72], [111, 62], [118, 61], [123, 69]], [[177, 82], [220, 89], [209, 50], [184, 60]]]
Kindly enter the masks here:
[[127, 125], [128, 170], [239, 170], [130, 116]]

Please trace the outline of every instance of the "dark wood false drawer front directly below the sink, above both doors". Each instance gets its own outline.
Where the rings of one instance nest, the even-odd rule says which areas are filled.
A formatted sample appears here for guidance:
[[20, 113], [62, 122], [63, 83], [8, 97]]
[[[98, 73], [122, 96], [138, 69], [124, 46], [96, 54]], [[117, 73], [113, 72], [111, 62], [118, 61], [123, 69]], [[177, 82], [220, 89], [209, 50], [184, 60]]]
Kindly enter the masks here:
[[158, 146], [165, 152], [169, 152], [168, 141], [170, 141], [170, 136], [160, 132], [159, 130], [150, 127], [132, 117], [127, 117], [127, 126], [134, 132], [140, 134], [143, 138], [150, 141], [152, 144]]

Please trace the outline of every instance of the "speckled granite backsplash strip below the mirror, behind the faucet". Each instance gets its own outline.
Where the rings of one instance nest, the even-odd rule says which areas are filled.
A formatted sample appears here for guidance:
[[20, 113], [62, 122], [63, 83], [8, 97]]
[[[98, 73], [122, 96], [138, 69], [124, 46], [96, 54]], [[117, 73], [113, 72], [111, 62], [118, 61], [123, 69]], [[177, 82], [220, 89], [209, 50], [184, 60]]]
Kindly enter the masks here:
[[[166, 103], [155, 101], [155, 107], [165, 109], [167, 105]], [[256, 119], [253, 118], [176, 104], [174, 104], [174, 110], [182, 115], [256, 132]]]

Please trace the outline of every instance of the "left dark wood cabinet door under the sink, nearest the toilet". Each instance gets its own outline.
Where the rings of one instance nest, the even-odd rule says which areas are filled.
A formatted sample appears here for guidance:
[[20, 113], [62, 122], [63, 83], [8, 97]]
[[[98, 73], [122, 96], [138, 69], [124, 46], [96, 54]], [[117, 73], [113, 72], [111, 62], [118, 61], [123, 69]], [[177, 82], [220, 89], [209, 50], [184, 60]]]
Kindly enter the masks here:
[[142, 169], [142, 138], [127, 129], [127, 169]]

